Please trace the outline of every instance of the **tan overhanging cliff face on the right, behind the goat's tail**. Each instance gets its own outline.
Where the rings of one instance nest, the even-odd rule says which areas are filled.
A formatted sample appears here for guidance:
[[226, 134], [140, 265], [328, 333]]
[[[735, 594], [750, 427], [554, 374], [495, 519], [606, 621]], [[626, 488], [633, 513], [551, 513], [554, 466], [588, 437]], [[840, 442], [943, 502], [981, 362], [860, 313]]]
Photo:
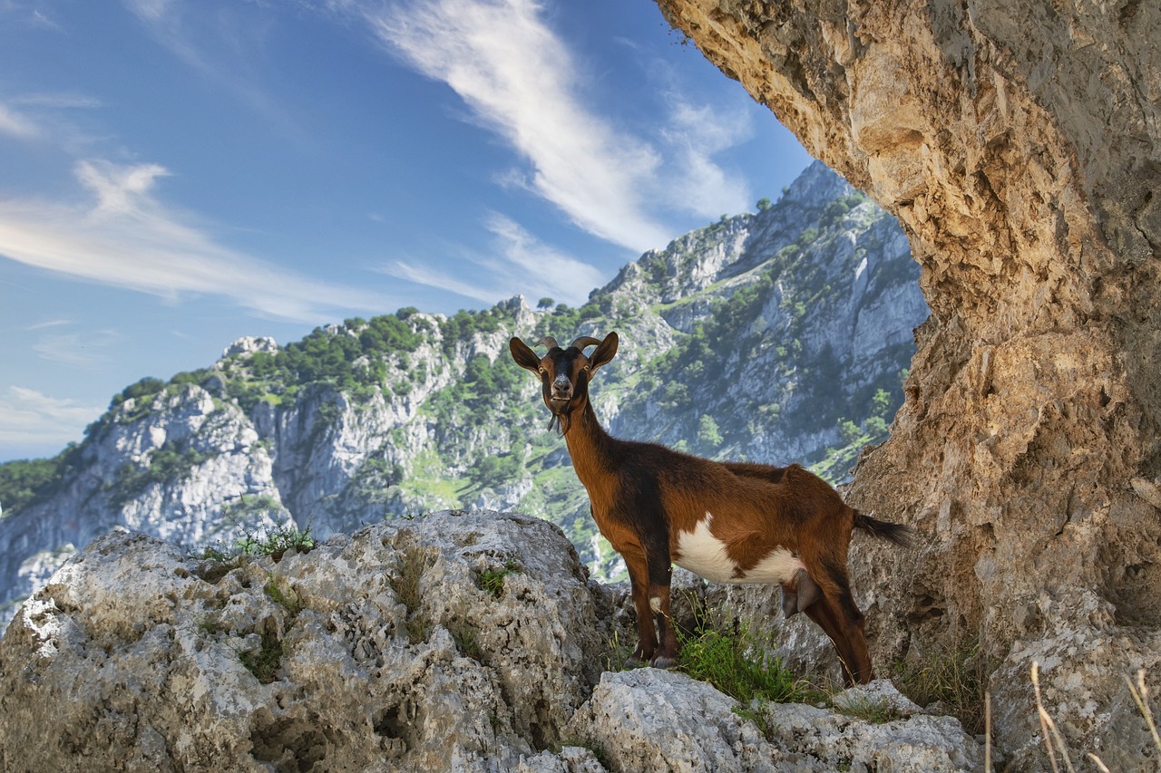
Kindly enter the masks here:
[[922, 266], [907, 400], [849, 497], [924, 535], [858, 554], [879, 659], [979, 641], [1017, 750], [1039, 660], [1073, 743], [1133, 747], [1123, 677], [1161, 652], [1161, 8], [658, 6]]

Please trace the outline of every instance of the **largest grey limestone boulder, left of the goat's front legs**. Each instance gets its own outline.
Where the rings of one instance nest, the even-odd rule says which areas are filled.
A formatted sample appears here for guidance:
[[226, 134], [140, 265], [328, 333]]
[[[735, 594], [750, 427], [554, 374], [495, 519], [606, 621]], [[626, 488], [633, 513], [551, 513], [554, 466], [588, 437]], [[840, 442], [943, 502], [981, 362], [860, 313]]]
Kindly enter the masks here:
[[276, 563], [114, 532], [0, 642], [0, 768], [513, 770], [599, 674], [598, 598], [556, 527], [498, 513]]

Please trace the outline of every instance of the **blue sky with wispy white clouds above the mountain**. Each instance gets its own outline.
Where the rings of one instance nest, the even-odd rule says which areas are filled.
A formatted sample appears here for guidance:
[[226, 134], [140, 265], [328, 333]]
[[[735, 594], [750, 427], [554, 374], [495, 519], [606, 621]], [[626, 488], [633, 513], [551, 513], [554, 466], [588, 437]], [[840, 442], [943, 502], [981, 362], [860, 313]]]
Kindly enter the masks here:
[[0, 0], [0, 462], [244, 335], [578, 305], [809, 161], [652, 0]]

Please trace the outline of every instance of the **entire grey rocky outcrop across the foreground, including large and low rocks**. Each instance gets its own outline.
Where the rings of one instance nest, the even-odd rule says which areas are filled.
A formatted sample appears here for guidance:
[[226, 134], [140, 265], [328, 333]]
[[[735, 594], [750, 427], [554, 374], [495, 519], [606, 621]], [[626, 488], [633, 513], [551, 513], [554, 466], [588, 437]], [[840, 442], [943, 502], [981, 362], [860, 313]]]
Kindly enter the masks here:
[[[0, 768], [803, 771], [980, 768], [888, 682], [885, 724], [747, 707], [685, 674], [606, 670], [616, 594], [560, 529], [442, 512], [279, 561], [200, 561], [114, 532], [0, 641]], [[860, 698], [861, 695], [861, 698]]]

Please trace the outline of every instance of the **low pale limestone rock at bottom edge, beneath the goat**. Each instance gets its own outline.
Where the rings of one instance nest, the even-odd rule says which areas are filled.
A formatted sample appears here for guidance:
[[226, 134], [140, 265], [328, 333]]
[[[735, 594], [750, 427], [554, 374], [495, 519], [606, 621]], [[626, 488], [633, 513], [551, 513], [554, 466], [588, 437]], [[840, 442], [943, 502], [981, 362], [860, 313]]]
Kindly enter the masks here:
[[[848, 700], [853, 700], [848, 696]], [[888, 682], [866, 700], [903, 703]], [[800, 703], [764, 708], [770, 737], [737, 701], [675, 672], [606, 672], [568, 731], [619, 771], [978, 771], [983, 751], [951, 717], [917, 714], [871, 724]]]

